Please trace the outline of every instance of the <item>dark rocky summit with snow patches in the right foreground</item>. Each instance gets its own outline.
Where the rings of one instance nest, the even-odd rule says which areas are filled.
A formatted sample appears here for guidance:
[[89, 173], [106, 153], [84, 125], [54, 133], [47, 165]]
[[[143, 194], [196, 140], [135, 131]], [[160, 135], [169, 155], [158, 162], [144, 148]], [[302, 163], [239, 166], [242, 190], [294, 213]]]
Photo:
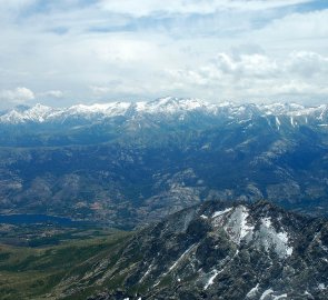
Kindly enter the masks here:
[[208, 201], [80, 268], [57, 287], [59, 298], [98, 287], [89, 300], [327, 299], [328, 222], [266, 201]]

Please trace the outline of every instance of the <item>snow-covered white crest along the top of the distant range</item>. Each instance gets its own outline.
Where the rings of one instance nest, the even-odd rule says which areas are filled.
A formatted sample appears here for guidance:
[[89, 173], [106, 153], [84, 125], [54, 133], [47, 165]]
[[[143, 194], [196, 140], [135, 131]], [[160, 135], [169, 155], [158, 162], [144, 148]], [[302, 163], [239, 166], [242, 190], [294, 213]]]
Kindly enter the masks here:
[[[36, 104], [32, 108], [17, 108], [0, 114], [0, 123], [27, 123], [27, 122], [56, 122], [67, 120], [69, 118], [81, 119], [88, 121], [101, 121], [107, 118], [118, 116], [142, 116], [142, 114], [160, 114], [177, 116], [177, 120], [183, 120], [186, 113], [201, 112], [216, 118], [226, 118], [242, 122], [250, 120], [256, 116], [262, 117], [280, 117], [288, 116], [292, 118], [291, 126], [297, 128], [299, 118], [301, 122], [308, 123], [312, 118], [319, 126], [326, 124], [328, 114], [327, 104], [306, 108], [297, 103], [272, 103], [272, 104], [236, 104], [233, 102], [210, 103], [192, 98], [175, 98], [165, 97], [153, 101], [139, 102], [109, 102], [95, 104], [76, 104], [69, 108], [56, 109], [42, 104]], [[284, 118], [282, 118], [284, 119]], [[276, 119], [277, 120], [277, 119]], [[279, 118], [279, 122], [281, 119]], [[279, 123], [279, 128], [282, 123]]]

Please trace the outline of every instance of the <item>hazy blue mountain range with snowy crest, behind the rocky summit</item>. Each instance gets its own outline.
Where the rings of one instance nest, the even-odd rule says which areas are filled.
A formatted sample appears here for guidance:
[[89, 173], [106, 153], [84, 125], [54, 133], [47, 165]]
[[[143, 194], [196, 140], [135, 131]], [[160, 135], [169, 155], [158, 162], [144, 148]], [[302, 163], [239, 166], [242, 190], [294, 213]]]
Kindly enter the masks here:
[[163, 98], [0, 113], [0, 212], [133, 228], [203, 200], [328, 209], [328, 106]]

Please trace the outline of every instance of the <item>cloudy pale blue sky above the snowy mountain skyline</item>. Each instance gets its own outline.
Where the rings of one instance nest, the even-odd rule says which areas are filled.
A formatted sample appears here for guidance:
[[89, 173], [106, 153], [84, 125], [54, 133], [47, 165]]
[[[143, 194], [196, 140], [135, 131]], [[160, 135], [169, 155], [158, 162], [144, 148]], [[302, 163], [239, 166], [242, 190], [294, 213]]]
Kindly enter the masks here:
[[328, 103], [327, 0], [0, 0], [0, 109]]

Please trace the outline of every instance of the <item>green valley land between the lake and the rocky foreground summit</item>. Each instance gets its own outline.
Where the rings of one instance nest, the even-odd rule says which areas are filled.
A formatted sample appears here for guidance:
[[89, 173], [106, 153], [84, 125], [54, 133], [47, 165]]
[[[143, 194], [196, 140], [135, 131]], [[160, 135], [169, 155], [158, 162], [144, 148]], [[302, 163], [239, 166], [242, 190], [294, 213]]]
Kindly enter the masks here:
[[[3, 233], [4, 228], [7, 234]], [[130, 236], [123, 231], [90, 228], [51, 230], [56, 233], [47, 238], [49, 229], [2, 224], [0, 299], [57, 299], [59, 294], [54, 288], [72, 268], [79, 268], [95, 256], [101, 258], [108, 254], [116, 244]], [[86, 292], [90, 294], [97, 290]], [[80, 297], [86, 299], [87, 294]], [[79, 299], [79, 296], [76, 294], [74, 299]]]

